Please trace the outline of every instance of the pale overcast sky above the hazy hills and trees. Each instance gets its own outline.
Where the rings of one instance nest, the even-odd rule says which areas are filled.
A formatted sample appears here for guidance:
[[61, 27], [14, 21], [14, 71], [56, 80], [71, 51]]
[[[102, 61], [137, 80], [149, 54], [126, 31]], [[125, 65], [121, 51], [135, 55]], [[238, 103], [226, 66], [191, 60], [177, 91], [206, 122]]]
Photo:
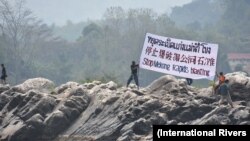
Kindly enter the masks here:
[[27, 7], [45, 23], [64, 25], [67, 20], [73, 23], [101, 19], [111, 6], [130, 8], [151, 8], [158, 14], [169, 13], [171, 7], [181, 6], [192, 0], [26, 0]]

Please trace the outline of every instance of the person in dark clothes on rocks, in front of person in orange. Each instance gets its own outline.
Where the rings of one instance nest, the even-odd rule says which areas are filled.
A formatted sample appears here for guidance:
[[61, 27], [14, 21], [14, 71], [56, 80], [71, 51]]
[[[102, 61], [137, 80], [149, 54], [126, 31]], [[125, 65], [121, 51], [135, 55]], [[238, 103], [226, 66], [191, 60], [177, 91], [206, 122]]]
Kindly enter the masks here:
[[224, 83], [222, 83], [219, 87], [219, 94], [221, 95], [221, 99], [219, 101], [219, 105], [223, 103], [223, 101], [226, 99], [227, 102], [231, 105], [233, 108], [233, 102], [229, 93], [229, 86], [228, 86], [229, 80], [225, 80]]

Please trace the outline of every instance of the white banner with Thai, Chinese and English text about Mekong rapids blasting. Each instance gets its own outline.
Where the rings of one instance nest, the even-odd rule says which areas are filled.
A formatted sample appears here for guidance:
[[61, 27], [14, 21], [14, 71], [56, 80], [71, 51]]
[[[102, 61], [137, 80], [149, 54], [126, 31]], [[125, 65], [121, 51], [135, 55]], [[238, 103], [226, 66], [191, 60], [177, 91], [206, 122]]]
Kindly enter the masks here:
[[140, 68], [175, 76], [213, 80], [218, 44], [163, 37], [147, 33]]

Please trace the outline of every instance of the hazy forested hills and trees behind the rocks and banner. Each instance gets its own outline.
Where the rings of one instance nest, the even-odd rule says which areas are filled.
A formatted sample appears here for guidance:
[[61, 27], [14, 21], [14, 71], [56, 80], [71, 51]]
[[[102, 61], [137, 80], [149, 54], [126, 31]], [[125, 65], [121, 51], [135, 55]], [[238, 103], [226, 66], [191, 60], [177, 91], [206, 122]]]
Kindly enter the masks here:
[[[103, 18], [65, 26], [46, 25], [20, 1], [0, 0], [0, 63], [10, 84], [45, 77], [67, 81], [113, 80], [125, 85], [147, 32], [219, 44], [217, 70], [231, 72], [227, 53], [250, 53], [249, 0], [193, 0], [171, 13], [110, 7]], [[164, 75], [139, 70], [146, 86]], [[202, 83], [195, 83], [202, 85]]]

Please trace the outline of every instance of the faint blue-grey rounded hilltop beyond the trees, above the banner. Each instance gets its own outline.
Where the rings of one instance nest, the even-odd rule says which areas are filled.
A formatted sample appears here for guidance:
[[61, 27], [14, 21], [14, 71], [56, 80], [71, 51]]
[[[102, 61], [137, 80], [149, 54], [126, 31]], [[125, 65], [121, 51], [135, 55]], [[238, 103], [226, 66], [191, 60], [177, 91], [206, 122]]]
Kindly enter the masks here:
[[222, 0], [193, 0], [182, 7], [172, 8], [170, 18], [179, 26], [201, 29], [216, 24], [224, 14]]

